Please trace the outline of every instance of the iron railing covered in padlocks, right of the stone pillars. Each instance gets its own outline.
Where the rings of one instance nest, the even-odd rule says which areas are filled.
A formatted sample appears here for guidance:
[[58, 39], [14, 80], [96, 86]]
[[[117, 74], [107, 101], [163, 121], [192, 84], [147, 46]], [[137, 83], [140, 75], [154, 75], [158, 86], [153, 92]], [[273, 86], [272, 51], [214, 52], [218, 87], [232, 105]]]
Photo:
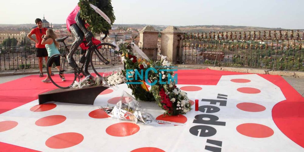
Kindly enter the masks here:
[[304, 70], [304, 30], [184, 33], [179, 61], [273, 70]]

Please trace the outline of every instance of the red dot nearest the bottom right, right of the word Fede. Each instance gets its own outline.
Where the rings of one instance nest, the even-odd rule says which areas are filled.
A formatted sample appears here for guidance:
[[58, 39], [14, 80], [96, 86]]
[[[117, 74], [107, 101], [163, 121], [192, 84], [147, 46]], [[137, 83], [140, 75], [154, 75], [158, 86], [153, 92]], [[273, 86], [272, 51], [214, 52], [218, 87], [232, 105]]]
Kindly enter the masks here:
[[244, 123], [237, 126], [237, 132], [253, 138], [266, 138], [273, 135], [273, 130], [268, 126], [257, 123]]

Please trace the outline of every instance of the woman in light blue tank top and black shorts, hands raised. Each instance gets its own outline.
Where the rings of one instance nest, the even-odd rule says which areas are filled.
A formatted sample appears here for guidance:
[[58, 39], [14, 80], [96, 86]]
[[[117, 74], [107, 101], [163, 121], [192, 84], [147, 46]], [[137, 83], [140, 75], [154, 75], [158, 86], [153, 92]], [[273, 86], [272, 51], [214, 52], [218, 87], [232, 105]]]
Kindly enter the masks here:
[[[55, 41], [55, 39], [57, 38], [57, 35], [54, 33], [53, 29], [47, 29], [46, 32], [47, 35], [43, 35], [42, 38], [42, 42], [41, 44], [45, 45], [45, 48], [47, 48], [47, 53], [48, 53], [48, 59], [54, 55], [54, 54], [60, 54], [58, 48], [59, 48], [59, 44]], [[49, 73], [51, 74], [51, 67], [52, 64], [55, 63], [58, 71], [60, 71], [60, 56], [54, 57], [49, 64]], [[61, 74], [60, 76], [62, 81], [65, 81], [65, 77], [64, 74]], [[47, 75], [47, 78], [42, 80], [42, 82], [45, 83], [50, 83], [50, 78], [49, 75]]]

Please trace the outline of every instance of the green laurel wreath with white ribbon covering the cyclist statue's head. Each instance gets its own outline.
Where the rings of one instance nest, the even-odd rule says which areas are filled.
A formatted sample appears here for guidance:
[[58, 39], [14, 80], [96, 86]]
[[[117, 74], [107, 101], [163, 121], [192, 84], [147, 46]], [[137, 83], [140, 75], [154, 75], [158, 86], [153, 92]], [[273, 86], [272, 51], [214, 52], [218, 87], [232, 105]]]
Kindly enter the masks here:
[[[101, 4], [99, 4], [101, 3]], [[93, 4], [95, 6], [99, 6], [98, 8], [104, 12], [109, 19], [111, 20], [111, 25], [115, 21], [114, 11], [111, 4], [111, 0], [80, 0], [78, 6], [80, 7], [80, 17], [88, 23], [87, 29], [92, 33], [102, 33], [103, 31], [108, 31], [111, 29], [111, 25], [102, 18], [98, 13], [95, 12], [94, 9], [91, 8], [89, 4]]]

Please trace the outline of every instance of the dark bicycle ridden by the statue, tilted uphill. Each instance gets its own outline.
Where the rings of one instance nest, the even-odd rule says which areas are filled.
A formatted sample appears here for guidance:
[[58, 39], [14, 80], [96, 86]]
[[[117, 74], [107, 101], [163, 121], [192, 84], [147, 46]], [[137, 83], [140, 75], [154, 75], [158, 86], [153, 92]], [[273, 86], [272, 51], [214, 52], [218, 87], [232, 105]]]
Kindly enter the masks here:
[[[85, 76], [84, 75], [84, 65], [85, 64], [82, 64], [82, 66], [78, 67], [77, 69], [74, 69], [68, 65], [67, 56], [70, 52], [68, 47], [70, 47], [71, 45], [66, 45], [64, 43], [64, 40], [67, 38], [68, 38], [68, 36], [56, 39], [57, 42], [62, 42], [64, 44], [64, 50], [63, 50], [62, 54], [52, 55], [49, 58], [49, 60], [47, 61], [47, 67], [49, 67], [50, 61], [54, 57], [60, 56], [60, 71], [52, 70], [52, 73], [54, 73], [54, 75], [53, 74], [50, 75], [49, 68], [47, 68], [47, 74], [50, 78], [50, 81], [54, 85], [56, 85], [58, 88], [62, 88], [62, 89], [70, 88], [76, 80], [80, 81], [81, 78], [84, 78], [84, 76]], [[111, 52], [111, 50], [115, 50], [115, 48], [116, 48], [116, 46], [114, 46], [113, 44], [101, 43], [98, 45], [93, 44], [87, 49], [86, 54], [85, 54], [85, 60], [87, 60], [88, 58], [90, 59], [91, 68], [97, 76], [102, 77], [100, 74], [98, 74], [98, 72], [96, 71], [96, 69], [94, 67], [94, 66], [96, 66], [95, 65], [96, 60], [102, 61], [104, 64], [110, 64], [110, 61], [105, 59], [105, 57], [103, 57], [102, 53], [99, 50], [110, 50], [110, 52]], [[62, 81], [62, 74], [64, 74], [65, 81]]]

